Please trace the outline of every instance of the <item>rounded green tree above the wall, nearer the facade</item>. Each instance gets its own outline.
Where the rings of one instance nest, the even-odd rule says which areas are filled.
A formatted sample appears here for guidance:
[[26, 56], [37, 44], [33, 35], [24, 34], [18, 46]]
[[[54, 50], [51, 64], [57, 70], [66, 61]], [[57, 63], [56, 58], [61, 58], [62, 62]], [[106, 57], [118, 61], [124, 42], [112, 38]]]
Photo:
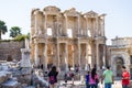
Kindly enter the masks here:
[[10, 30], [10, 36], [15, 37], [16, 35], [21, 35], [21, 29], [19, 26], [12, 26]]

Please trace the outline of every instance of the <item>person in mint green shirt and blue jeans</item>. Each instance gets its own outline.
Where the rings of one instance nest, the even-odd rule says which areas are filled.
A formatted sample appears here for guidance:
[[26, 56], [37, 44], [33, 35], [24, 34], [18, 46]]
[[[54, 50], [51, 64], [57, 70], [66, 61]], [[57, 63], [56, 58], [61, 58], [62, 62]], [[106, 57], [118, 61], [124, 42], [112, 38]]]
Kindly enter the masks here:
[[110, 70], [110, 67], [108, 66], [107, 69], [102, 74], [102, 80], [105, 80], [105, 88], [111, 88], [113, 84], [113, 74], [112, 70]]

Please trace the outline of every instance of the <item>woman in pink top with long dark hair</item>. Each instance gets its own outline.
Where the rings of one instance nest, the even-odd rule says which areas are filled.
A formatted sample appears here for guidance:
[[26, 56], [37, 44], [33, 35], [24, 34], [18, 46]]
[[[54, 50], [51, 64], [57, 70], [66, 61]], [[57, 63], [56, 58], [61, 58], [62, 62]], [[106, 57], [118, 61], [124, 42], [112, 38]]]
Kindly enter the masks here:
[[92, 68], [89, 79], [90, 88], [98, 88], [99, 76], [97, 75], [96, 68]]

